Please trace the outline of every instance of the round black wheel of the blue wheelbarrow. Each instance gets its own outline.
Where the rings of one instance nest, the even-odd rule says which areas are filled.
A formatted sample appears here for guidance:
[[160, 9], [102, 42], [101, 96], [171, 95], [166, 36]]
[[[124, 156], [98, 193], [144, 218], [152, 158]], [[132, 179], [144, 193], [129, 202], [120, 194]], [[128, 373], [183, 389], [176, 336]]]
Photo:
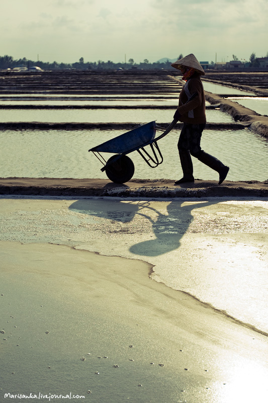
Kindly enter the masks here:
[[125, 183], [131, 180], [134, 175], [134, 163], [127, 155], [122, 155], [115, 162], [110, 163], [117, 155], [113, 155], [107, 161], [106, 175], [110, 181], [115, 183]]

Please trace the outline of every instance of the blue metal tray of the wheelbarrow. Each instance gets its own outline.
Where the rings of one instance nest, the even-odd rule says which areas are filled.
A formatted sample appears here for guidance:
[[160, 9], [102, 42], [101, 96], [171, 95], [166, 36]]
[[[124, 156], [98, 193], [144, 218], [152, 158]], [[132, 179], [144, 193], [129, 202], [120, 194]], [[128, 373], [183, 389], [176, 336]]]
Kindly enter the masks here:
[[111, 152], [126, 155], [155, 141], [155, 133], [156, 125], [155, 121], [153, 121], [130, 130], [127, 133], [121, 134], [120, 136], [93, 147], [88, 151]]

